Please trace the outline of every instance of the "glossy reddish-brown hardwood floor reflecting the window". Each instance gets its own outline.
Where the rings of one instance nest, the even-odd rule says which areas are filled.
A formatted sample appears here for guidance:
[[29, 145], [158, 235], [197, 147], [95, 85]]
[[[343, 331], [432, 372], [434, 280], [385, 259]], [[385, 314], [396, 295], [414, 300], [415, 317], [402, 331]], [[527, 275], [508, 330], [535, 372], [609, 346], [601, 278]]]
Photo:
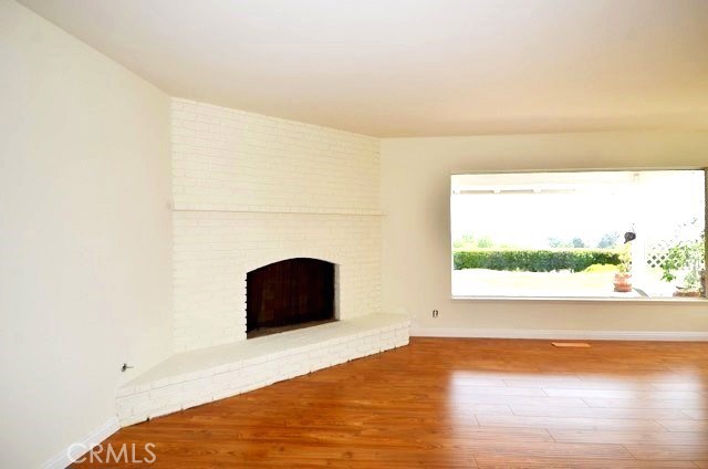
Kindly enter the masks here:
[[[147, 442], [140, 467], [708, 468], [708, 343], [413, 338], [124, 428], [96, 456], [150, 460]], [[131, 467], [115, 460], [77, 466]]]

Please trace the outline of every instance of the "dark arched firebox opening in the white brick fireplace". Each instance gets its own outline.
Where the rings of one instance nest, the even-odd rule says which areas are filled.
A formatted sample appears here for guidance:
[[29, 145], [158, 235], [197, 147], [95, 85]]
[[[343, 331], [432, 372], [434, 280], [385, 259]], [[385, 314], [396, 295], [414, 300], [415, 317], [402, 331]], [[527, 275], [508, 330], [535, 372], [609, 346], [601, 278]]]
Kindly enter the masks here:
[[246, 275], [248, 338], [334, 320], [333, 263], [288, 259]]

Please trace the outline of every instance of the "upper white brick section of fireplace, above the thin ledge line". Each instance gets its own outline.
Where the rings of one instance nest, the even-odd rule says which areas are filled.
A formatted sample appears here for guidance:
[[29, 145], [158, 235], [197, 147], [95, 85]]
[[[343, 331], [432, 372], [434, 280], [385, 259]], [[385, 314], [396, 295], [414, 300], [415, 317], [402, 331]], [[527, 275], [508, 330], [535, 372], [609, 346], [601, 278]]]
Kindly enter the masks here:
[[[210, 209], [271, 206], [378, 210], [378, 145], [376, 138], [236, 110], [185, 105], [181, 100], [173, 105], [174, 166], [201, 164], [231, 169], [227, 178], [200, 174], [201, 184], [175, 184], [176, 189], [184, 185], [199, 188], [195, 201], [210, 204]], [[223, 176], [223, 171], [218, 175]], [[210, 180], [225, 181], [218, 187], [231, 192], [254, 181], [261, 187], [274, 184], [278, 190], [248, 190], [232, 199], [228, 192], [210, 192]]]

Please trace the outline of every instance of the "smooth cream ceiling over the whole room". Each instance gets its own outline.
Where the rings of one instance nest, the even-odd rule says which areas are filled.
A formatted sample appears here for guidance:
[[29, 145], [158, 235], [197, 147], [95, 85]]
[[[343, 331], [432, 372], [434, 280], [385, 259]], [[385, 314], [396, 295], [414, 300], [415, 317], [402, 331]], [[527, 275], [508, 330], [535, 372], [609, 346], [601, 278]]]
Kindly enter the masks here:
[[362, 134], [708, 128], [706, 0], [20, 0], [165, 92]]

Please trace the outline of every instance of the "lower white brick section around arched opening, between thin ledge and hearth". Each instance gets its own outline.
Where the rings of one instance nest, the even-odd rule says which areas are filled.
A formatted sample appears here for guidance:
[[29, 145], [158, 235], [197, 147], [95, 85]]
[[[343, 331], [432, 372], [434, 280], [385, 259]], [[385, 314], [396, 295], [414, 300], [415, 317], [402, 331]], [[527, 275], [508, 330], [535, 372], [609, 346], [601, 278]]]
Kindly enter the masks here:
[[378, 217], [175, 213], [178, 352], [246, 340], [246, 274], [290, 258], [336, 264], [341, 320], [379, 312]]

